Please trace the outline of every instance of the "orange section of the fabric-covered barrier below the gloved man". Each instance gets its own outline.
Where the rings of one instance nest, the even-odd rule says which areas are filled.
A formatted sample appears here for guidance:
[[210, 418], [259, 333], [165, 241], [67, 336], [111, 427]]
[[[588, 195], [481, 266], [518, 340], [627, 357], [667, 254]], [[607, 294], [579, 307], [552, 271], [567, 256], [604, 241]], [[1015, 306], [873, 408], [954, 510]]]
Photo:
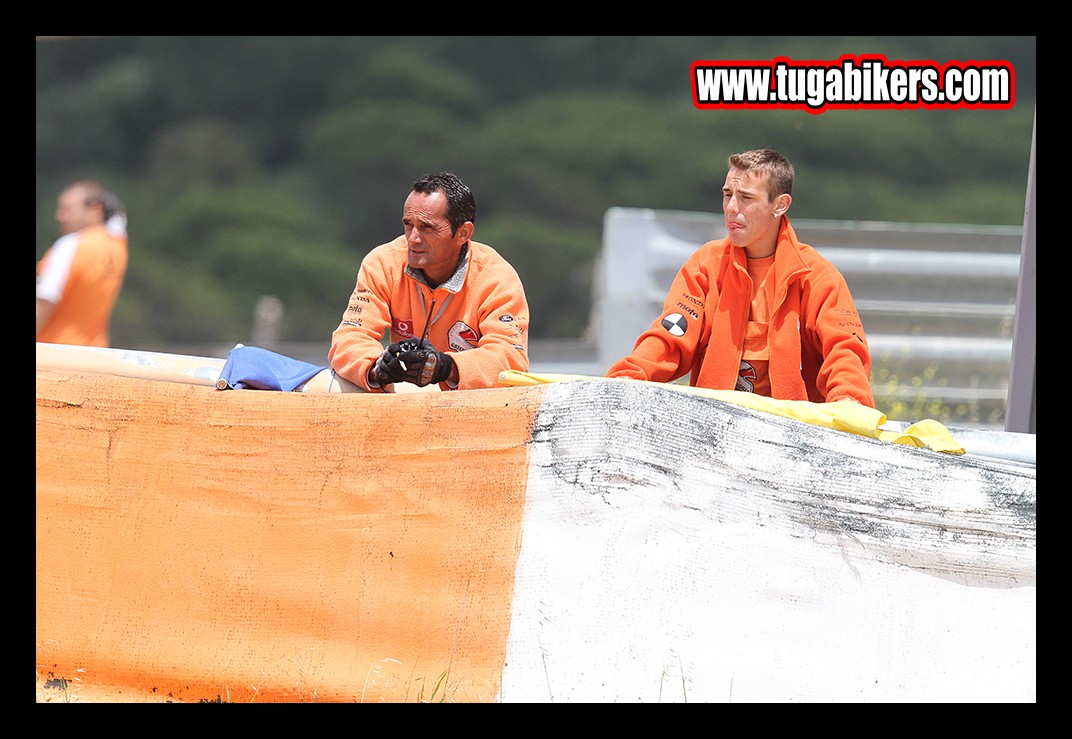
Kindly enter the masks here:
[[540, 387], [38, 370], [39, 701], [495, 701]]

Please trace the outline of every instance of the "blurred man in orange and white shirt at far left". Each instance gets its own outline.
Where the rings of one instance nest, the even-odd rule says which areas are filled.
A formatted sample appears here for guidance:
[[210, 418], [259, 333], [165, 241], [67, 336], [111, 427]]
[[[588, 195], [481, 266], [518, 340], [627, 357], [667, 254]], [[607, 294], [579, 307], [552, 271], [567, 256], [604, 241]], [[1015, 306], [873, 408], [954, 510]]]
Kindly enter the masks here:
[[38, 263], [38, 341], [108, 346], [111, 312], [126, 275], [126, 215], [96, 180], [57, 199], [62, 236]]

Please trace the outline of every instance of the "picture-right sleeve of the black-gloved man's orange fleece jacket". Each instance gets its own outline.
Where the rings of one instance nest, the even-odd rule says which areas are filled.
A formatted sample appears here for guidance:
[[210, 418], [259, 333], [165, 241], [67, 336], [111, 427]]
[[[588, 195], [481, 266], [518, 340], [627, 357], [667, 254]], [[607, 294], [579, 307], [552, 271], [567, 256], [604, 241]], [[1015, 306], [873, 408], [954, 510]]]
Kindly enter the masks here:
[[506, 370], [528, 371], [528, 301], [517, 271], [506, 263], [485, 265], [474, 280], [474, 312], [480, 338], [476, 348], [451, 352], [458, 387], [495, 387]]

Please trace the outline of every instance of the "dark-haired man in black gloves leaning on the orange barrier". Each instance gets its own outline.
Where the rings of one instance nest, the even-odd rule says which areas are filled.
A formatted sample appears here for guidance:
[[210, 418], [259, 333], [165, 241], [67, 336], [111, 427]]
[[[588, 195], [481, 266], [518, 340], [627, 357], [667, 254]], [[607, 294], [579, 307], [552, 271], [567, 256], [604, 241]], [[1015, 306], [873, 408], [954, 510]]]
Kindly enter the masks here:
[[473, 192], [456, 175], [413, 183], [403, 233], [361, 260], [331, 335], [328, 359], [340, 376], [371, 391], [397, 383], [455, 390], [493, 387], [504, 370], [528, 370], [521, 278], [492, 247], [472, 240], [474, 221]]

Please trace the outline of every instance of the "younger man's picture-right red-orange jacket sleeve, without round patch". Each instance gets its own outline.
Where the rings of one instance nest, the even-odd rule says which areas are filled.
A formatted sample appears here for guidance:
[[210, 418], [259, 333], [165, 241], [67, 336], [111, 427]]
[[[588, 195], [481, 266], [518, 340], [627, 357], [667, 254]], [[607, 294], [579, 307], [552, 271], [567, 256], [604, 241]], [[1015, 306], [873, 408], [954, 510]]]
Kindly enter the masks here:
[[851, 398], [875, 408], [870, 386], [870, 350], [855, 302], [845, 278], [831, 268], [805, 294], [806, 339], [814, 349], [812, 361], [816, 400], [836, 402]]

